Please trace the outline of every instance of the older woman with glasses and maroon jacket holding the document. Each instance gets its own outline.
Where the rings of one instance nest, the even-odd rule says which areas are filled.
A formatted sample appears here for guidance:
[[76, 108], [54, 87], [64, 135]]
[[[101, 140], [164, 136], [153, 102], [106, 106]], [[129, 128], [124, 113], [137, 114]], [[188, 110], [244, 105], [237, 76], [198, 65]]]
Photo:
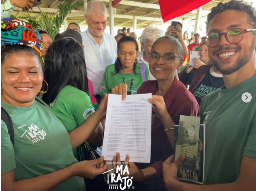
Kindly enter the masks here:
[[[199, 106], [195, 97], [175, 77], [175, 70], [183, 63], [183, 48], [172, 36], [160, 37], [152, 46], [149, 54], [149, 69], [157, 80], [145, 81], [138, 89], [138, 94], [152, 93], [151, 123], [151, 162], [134, 164], [128, 162], [130, 175], [138, 182], [148, 183], [152, 190], [166, 190], [161, 178], [162, 161], [174, 154], [174, 125], [179, 124], [180, 115], [196, 116]], [[125, 86], [124, 86], [125, 88]], [[126, 90], [119, 93], [126, 96]], [[118, 94], [116, 88], [112, 93]], [[119, 154], [114, 161], [119, 161]], [[127, 159], [128, 161], [128, 159]], [[154, 180], [152, 177], [157, 176]], [[137, 188], [146, 190], [147, 184], [139, 184]]]

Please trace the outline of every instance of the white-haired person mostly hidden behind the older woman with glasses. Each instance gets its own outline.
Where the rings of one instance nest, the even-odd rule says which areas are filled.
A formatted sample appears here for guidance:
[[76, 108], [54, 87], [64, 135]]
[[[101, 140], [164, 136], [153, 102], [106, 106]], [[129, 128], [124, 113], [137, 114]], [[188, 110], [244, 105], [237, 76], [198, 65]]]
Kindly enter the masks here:
[[[141, 34], [141, 46], [143, 51], [139, 53], [138, 63], [145, 63], [148, 65], [149, 61], [149, 53], [151, 52], [151, 48], [154, 42], [163, 36], [163, 31], [161, 29], [157, 29], [153, 26], [149, 26], [143, 30]], [[154, 80], [154, 76], [150, 74], [150, 80]]]

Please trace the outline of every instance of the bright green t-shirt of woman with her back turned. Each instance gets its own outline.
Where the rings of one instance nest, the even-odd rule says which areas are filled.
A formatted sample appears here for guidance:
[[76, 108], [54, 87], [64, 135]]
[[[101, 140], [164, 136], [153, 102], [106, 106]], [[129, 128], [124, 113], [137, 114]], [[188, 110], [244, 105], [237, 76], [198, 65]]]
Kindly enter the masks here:
[[[52, 111], [68, 132], [84, 123], [94, 112], [90, 97], [73, 86], [65, 86], [52, 105]], [[77, 148], [73, 150], [77, 158]]]

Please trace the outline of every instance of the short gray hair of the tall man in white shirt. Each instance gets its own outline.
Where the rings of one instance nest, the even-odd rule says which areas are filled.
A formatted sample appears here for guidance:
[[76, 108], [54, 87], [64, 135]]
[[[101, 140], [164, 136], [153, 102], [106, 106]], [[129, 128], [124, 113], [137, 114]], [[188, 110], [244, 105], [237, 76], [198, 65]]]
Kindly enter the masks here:
[[87, 8], [85, 12], [87, 17], [90, 16], [90, 13], [92, 11], [96, 14], [104, 14], [107, 17], [108, 11], [105, 4], [102, 1], [99, 1], [99, 0], [90, 1], [87, 4]]

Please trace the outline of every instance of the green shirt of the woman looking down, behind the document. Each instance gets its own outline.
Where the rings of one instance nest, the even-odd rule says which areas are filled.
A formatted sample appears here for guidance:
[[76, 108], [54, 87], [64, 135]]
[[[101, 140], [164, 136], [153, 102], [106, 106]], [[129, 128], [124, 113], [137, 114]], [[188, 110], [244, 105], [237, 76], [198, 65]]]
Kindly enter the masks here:
[[[148, 66], [144, 64], [145, 67], [145, 80], [149, 80], [149, 70]], [[115, 64], [111, 64], [105, 70], [102, 85], [100, 87], [100, 95], [103, 96], [105, 94], [111, 93], [111, 89], [118, 85], [119, 83], [123, 83], [123, 76], [125, 79], [125, 83], [127, 84], [128, 91], [130, 90], [131, 80], [134, 78], [134, 83], [131, 88], [131, 94], [137, 94], [137, 90], [140, 88], [143, 83], [143, 76], [141, 74], [140, 64], [136, 64], [136, 75], [134, 73], [130, 74], [122, 74], [119, 72], [118, 74], [114, 74], [115, 72]]]

